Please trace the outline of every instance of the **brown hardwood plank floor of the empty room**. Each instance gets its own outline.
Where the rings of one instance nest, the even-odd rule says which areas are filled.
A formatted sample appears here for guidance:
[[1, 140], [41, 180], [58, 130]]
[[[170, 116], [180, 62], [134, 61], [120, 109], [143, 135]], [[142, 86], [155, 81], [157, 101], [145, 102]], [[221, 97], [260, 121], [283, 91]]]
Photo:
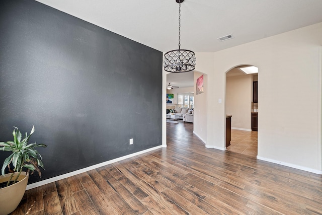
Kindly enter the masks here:
[[27, 190], [12, 214], [322, 214], [322, 176], [206, 149], [191, 123], [168, 147]]

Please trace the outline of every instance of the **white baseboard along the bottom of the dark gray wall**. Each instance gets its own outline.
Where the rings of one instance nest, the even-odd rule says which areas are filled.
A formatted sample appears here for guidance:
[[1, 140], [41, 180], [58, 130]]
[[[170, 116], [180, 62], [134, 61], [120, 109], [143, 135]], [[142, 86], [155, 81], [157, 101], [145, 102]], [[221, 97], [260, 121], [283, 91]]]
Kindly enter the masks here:
[[43, 181], [39, 181], [39, 182], [36, 182], [36, 183], [33, 183], [33, 184], [28, 184], [26, 190], [29, 190], [29, 189], [32, 189], [32, 188], [35, 188], [35, 187], [39, 187], [39, 186], [42, 186], [42, 185], [45, 185], [45, 184], [49, 184], [51, 182], [55, 182], [55, 181], [58, 181], [58, 180], [61, 180], [61, 179], [64, 179], [64, 178], [68, 178], [68, 177], [71, 177], [71, 176], [74, 176], [74, 175], [78, 175], [78, 174], [81, 174], [81, 173], [84, 173], [84, 172], [87, 172], [87, 171], [90, 171], [90, 170], [94, 170], [96, 168], [103, 167], [105, 165], [112, 164], [112, 163], [115, 163], [115, 162], [118, 162], [118, 161], [122, 161], [122, 160], [131, 158], [131, 157], [134, 157], [134, 156], [137, 156], [137, 155], [141, 155], [141, 154], [153, 151], [153, 150], [163, 148], [163, 147], [164, 147], [163, 145], [153, 147], [153, 148], [150, 148], [150, 149], [147, 149], [147, 150], [136, 152], [136, 153], [133, 153], [133, 154], [130, 154], [130, 155], [126, 155], [126, 156], [123, 156], [123, 157], [120, 157], [120, 158], [116, 158], [116, 159], [113, 159], [113, 160], [110, 160], [110, 161], [106, 161], [106, 162], [96, 164], [96, 165], [93, 165], [93, 166], [90, 166], [90, 167], [86, 167], [86, 168], [83, 168], [83, 169], [80, 169], [80, 170], [76, 170], [76, 171], [73, 171], [73, 172], [70, 172], [70, 173], [66, 173], [66, 174], [59, 175], [59, 176], [56, 176], [56, 177], [53, 177], [53, 178], [49, 178], [49, 179], [46, 179], [46, 180], [43, 180]]

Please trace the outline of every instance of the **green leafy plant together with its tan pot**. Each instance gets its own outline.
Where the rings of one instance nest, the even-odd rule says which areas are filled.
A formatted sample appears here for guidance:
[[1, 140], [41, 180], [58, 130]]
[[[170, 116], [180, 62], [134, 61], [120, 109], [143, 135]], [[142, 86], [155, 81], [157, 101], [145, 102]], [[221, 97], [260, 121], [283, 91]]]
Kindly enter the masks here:
[[[32, 126], [30, 134], [28, 135], [26, 132], [25, 138], [22, 138], [19, 129], [14, 127], [12, 133], [14, 141], [0, 142], [0, 150], [12, 152], [5, 159], [0, 176], [0, 215], [8, 214], [17, 208], [25, 193], [30, 171], [30, 174], [33, 174], [36, 170], [39, 177], [41, 176], [39, 167], [44, 168], [44, 165], [36, 148], [47, 146], [36, 144], [36, 142], [28, 144], [28, 140], [34, 131], [35, 127]], [[7, 167], [9, 174], [5, 174]], [[27, 172], [23, 172], [24, 168], [27, 169]]]

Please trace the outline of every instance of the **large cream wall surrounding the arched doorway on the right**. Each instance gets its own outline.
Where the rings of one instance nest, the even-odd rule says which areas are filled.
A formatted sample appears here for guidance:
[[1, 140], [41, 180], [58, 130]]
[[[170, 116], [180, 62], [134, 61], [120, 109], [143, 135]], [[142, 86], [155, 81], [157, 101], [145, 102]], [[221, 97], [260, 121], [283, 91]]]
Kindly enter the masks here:
[[194, 127], [207, 130], [207, 146], [225, 149], [226, 71], [255, 65], [261, 83], [258, 158], [322, 173], [321, 45], [318, 23], [215, 53], [196, 53], [196, 70], [208, 75], [208, 95], [207, 111], [200, 113], [207, 115]]

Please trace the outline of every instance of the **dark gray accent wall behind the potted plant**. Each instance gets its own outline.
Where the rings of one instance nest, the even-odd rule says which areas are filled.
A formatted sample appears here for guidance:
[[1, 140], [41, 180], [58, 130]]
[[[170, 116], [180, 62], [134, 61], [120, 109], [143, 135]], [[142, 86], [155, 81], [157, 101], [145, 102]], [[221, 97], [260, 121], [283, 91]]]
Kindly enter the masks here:
[[31, 142], [48, 145], [29, 183], [160, 146], [162, 52], [36, 1], [1, 1], [0, 125], [0, 141], [34, 125]]

